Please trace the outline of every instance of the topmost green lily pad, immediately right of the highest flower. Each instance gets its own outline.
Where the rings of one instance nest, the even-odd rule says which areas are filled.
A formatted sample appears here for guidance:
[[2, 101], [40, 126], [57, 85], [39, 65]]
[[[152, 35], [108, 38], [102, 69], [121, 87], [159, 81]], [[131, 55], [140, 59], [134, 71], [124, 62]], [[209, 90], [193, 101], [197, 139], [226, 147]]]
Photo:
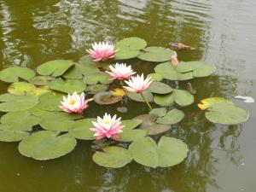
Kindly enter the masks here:
[[126, 60], [137, 57], [140, 54], [140, 49], [147, 46], [147, 42], [143, 38], [124, 38], [115, 44], [115, 49], [118, 49], [115, 54], [115, 60]]

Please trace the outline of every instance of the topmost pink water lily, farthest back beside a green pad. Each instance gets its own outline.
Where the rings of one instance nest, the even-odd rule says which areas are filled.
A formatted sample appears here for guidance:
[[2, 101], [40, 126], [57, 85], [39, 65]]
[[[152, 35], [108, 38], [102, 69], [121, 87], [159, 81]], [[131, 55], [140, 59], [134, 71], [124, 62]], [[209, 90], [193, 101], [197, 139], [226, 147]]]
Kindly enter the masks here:
[[113, 44], [100, 42], [92, 44], [92, 49], [87, 49], [86, 51], [90, 54], [93, 61], [102, 61], [114, 57], [116, 50], [113, 48]]

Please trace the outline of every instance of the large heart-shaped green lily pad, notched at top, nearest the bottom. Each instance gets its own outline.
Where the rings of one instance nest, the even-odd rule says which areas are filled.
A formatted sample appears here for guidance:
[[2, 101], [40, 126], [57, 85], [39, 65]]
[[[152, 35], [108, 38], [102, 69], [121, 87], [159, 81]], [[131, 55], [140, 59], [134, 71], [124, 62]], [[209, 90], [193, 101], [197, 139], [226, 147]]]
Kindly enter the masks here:
[[129, 151], [137, 163], [155, 168], [181, 163], [187, 156], [188, 147], [174, 137], [161, 137], [158, 144], [152, 138], [144, 137], [131, 143]]

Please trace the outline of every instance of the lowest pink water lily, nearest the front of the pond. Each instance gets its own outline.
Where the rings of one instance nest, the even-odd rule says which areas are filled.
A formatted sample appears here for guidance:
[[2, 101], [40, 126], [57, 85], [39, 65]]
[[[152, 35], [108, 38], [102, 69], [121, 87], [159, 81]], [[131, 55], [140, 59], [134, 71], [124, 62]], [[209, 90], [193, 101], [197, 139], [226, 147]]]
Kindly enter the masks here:
[[97, 117], [97, 122], [92, 122], [94, 128], [90, 128], [90, 130], [96, 132], [94, 136], [97, 140], [100, 140], [103, 137], [119, 138], [119, 133], [122, 132], [124, 125], [121, 125], [121, 118], [116, 118], [116, 115], [113, 115], [113, 118], [111, 118], [110, 114], [105, 113], [103, 119]]

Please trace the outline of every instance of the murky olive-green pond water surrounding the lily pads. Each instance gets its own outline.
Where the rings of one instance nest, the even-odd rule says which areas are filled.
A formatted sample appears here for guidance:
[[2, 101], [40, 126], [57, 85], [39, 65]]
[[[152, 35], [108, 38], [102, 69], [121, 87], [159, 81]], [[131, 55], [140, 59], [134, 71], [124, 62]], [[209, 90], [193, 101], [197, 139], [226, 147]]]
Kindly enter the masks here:
[[[95, 41], [115, 42], [137, 36], [149, 45], [181, 42], [196, 48], [178, 52], [182, 61], [212, 62], [217, 72], [193, 79], [195, 102], [223, 96], [246, 108], [242, 125], [214, 125], [195, 104], [183, 108], [186, 118], [168, 136], [182, 138], [189, 156], [178, 166], [148, 168], [135, 162], [107, 169], [92, 160], [89, 142], [60, 159], [38, 161], [19, 154], [17, 143], [0, 143], [0, 192], [213, 192], [254, 191], [256, 187], [255, 104], [235, 101], [236, 95], [256, 98], [256, 1], [254, 0], [0, 0], [1, 68], [35, 68], [45, 61], [78, 61]], [[154, 65], [129, 61], [138, 73]], [[188, 82], [175, 86], [185, 89]], [[174, 85], [174, 84], [173, 84]], [[0, 83], [1, 91], [6, 84]], [[88, 117], [118, 113], [123, 119], [147, 113], [143, 103], [95, 105]]]

